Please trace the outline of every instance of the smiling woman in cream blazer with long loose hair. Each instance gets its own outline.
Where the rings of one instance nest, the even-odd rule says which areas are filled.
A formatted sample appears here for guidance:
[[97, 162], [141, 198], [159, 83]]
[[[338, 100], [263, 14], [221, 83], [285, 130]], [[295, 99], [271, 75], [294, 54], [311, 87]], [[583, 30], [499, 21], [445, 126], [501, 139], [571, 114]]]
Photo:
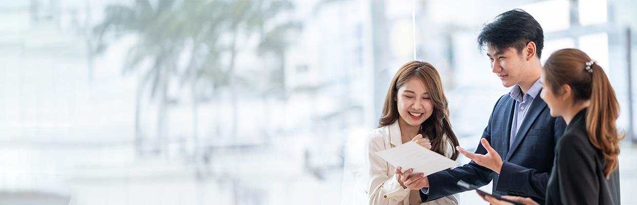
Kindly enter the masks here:
[[[405, 142], [416, 142], [450, 159], [457, 159], [453, 147], [458, 140], [451, 130], [447, 98], [440, 75], [427, 62], [405, 63], [392, 79], [378, 128], [369, 133], [366, 170], [369, 204], [420, 204], [419, 190], [403, 184], [394, 166], [375, 152]], [[442, 197], [431, 204], [457, 204], [457, 196]]]

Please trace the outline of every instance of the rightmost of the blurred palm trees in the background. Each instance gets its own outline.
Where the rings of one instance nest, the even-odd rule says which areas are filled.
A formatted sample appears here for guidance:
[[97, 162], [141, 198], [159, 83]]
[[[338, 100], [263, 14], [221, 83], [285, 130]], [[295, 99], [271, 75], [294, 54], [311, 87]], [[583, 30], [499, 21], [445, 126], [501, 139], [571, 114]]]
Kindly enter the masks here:
[[[230, 65], [228, 69], [229, 88], [231, 91], [232, 113], [238, 113], [238, 103], [236, 89], [239, 88], [237, 81], [243, 81], [243, 86], [254, 88], [262, 93], [263, 98], [278, 94], [284, 96], [285, 75], [283, 69], [285, 67], [285, 52], [290, 45], [290, 34], [299, 31], [301, 22], [294, 20], [281, 20], [281, 15], [287, 15], [294, 11], [294, 4], [290, 1], [234, 1], [230, 8], [229, 18], [231, 18], [232, 41], [230, 46]], [[278, 18], [278, 19], [277, 19]], [[273, 68], [263, 69], [262, 73], [255, 76], [259, 78], [262, 86], [250, 81], [249, 77], [236, 77], [236, 53], [240, 48], [236, 46], [236, 40], [239, 34], [259, 34], [261, 39], [257, 54], [264, 56], [271, 54], [277, 58], [278, 65]], [[277, 92], [280, 91], [280, 92]], [[268, 103], [268, 100], [265, 100]], [[269, 116], [269, 104], [266, 105], [266, 116]], [[233, 117], [233, 134], [236, 137], [238, 126], [237, 117]]]

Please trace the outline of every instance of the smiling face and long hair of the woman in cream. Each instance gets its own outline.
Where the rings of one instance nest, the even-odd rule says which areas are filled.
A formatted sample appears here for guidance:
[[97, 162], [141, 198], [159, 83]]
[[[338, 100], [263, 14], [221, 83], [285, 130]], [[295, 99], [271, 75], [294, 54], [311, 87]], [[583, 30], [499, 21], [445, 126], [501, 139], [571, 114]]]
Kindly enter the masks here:
[[[457, 145], [449, 123], [447, 105], [438, 70], [427, 62], [405, 63], [391, 81], [378, 128], [398, 121], [401, 130], [406, 129], [403, 134], [422, 134], [431, 140], [431, 150], [446, 155], [447, 152], [443, 150], [445, 143], [454, 145], [453, 147]], [[418, 118], [417, 115], [423, 113], [425, 117]], [[449, 154], [454, 160], [458, 156], [453, 149]]]

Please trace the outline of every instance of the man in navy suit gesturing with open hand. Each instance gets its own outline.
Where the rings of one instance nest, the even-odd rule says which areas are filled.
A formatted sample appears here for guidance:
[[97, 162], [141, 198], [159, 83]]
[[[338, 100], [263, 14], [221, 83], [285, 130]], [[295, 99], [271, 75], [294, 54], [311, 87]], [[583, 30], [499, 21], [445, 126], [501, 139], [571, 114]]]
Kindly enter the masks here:
[[566, 124], [561, 117], [551, 117], [540, 98], [540, 23], [526, 11], [506, 11], [485, 25], [478, 44], [487, 48], [491, 71], [512, 89], [497, 100], [475, 154], [456, 147], [472, 161], [429, 176], [410, 177], [411, 169], [403, 173], [401, 168], [396, 173], [407, 188], [420, 189], [424, 202], [466, 191], [456, 185], [458, 180], [479, 187], [493, 180], [494, 193], [531, 197], [543, 204], [555, 144]]

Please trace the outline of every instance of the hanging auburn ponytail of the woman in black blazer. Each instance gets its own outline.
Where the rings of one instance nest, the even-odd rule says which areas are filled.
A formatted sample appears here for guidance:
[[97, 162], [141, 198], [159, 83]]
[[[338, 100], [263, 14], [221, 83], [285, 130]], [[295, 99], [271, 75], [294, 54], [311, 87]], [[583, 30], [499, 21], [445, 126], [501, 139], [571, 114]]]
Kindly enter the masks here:
[[619, 117], [619, 102], [615, 97], [615, 90], [608, 81], [606, 73], [596, 63], [591, 63], [592, 90], [590, 93], [590, 105], [586, 114], [586, 132], [590, 143], [602, 151], [604, 155], [604, 175], [610, 177], [610, 173], [617, 169], [619, 162], [619, 141], [626, 133], [617, 133], [615, 120]]

